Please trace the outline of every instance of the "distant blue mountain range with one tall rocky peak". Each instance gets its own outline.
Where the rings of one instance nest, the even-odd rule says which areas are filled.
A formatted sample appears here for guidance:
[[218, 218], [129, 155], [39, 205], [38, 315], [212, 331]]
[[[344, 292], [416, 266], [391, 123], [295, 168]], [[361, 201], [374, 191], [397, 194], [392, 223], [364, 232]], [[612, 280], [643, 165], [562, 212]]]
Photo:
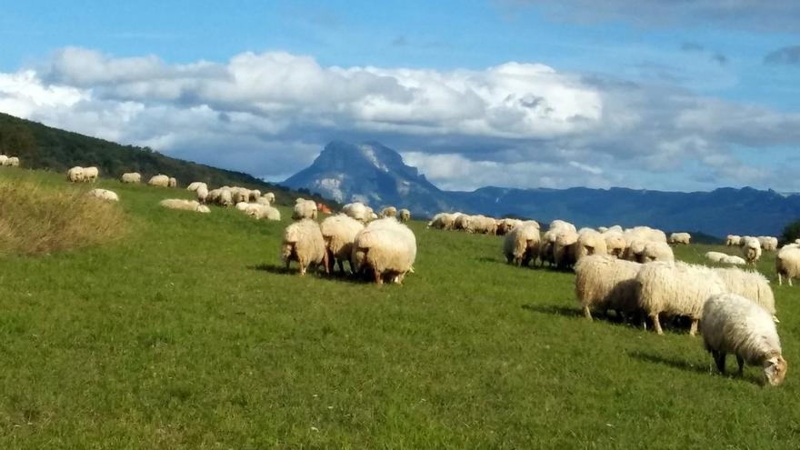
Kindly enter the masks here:
[[800, 217], [800, 195], [782, 195], [750, 187], [711, 192], [651, 190], [510, 189], [487, 186], [473, 192], [443, 191], [395, 150], [376, 142], [354, 145], [334, 141], [314, 163], [284, 185], [305, 188], [339, 203], [365, 202], [407, 207], [417, 216], [464, 211], [494, 216], [515, 215], [547, 223], [561, 218], [578, 226], [650, 225], [666, 231], [699, 231], [708, 235], [779, 235]]

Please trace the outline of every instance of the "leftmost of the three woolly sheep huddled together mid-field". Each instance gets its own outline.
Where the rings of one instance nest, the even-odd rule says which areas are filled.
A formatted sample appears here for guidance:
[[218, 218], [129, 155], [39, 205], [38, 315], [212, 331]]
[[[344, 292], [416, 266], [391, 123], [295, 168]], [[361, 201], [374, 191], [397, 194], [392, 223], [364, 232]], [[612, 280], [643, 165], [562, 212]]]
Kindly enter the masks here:
[[289, 270], [289, 263], [296, 261], [300, 265], [300, 275], [305, 275], [309, 265], [323, 265], [325, 274], [330, 274], [328, 252], [325, 239], [319, 224], [311, 219], [302, 219], [284, 230], [284, 241], [281, 247], [281, 259]]

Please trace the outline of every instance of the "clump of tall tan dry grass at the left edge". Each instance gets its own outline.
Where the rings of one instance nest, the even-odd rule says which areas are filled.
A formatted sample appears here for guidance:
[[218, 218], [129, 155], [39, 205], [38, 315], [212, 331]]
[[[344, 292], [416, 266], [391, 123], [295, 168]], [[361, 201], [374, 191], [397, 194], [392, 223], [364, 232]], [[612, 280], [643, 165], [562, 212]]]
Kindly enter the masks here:
[[0, 255], [41, 255], [95, 245], [125, 234], [119, 205], [75, 187], [0, 180]]

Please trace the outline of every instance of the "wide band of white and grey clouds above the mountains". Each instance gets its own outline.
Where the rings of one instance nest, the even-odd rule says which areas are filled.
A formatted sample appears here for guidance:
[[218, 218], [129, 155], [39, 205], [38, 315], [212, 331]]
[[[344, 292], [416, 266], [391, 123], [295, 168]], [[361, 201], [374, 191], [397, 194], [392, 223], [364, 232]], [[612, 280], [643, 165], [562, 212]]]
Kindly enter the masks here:
[[[0, 110], [271, 180], [308, 165], [332, 139], [375, 139], [458, 189], [765, 183], [768, 167], [750, 170], [729, 148], [800, 143], [800, 114], [668, 81], [519, 62], [452, 71], [323, 66], [285, 52], [174, 65], [69, 47], [0, 74]], [[705, 175], [676, 185], [690, 163]]]

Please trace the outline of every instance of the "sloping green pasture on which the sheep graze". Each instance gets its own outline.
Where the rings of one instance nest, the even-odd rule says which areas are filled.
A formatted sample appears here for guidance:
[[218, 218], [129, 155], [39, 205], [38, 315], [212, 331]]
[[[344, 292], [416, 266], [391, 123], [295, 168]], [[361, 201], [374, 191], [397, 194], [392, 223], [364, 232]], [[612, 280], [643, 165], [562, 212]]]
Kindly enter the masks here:
[[[405, 285], [301, 278], [278, 259], [286, 210], [198, 215], [157, 205], [185, 191], [98, 185], [121, 197], [124, 238], [0, 257], [0, 448], [800, 442], [800, 287], [774, 286], [789, 372], [765, 388], [755, 367], [716, 374], [700, 338], [587, 322], [574, 275], [505, 265], [500, 237], [414, 222]], [[759, 269], [773, 279], [774, 255]]]

